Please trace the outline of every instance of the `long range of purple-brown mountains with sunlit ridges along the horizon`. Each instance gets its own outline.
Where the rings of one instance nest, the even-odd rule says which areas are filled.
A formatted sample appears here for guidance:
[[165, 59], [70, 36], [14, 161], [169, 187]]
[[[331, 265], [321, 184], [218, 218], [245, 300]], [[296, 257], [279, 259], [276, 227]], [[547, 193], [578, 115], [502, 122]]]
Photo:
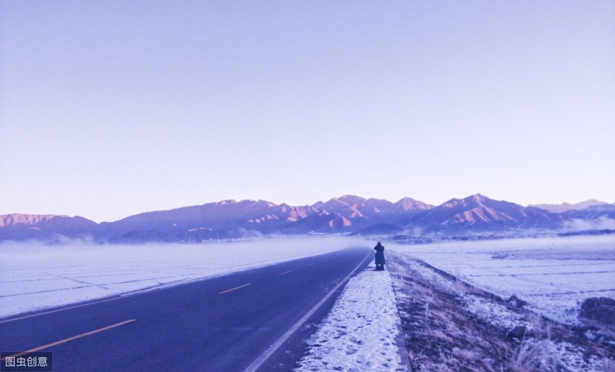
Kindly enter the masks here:
[[577, 204], [523, 207], [475, 194], [434, 206], [410, 197], [390, 202], [344, 195], [301, 206], [266, 200], [222, 200], [103, 223], [81, 216], [13, 213], [0, 215], [0, 240], [68, 237], [143, 243], [202, 242], [260, 235], [392, 235], [405, 231], [446, 235], [557, 230], [571, 226], [569, 221], [603, 222], [605, 218], [615, 218], [615, 205], [593, 199]]

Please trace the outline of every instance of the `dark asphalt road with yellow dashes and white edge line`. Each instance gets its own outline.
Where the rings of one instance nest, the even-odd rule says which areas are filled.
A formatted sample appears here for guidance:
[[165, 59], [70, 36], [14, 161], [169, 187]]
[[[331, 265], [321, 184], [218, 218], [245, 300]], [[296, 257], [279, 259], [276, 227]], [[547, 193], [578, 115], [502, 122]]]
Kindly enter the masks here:
[[54, 371], [288, 371], [345, 282], [335, 287], [372, 258], [348, 248], [1, 319], [0, 350], [54, 344], [42, 349]]

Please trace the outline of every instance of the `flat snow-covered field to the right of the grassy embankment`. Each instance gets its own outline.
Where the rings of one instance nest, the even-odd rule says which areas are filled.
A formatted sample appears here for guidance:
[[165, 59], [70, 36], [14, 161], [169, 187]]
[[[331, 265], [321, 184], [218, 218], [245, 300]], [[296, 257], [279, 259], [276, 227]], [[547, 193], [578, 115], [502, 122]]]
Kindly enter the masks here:
[[534, 311], [569, 324], [585, 298], [615, 298], [615, 235], [392, 245], [476, 287], [517, 295]]

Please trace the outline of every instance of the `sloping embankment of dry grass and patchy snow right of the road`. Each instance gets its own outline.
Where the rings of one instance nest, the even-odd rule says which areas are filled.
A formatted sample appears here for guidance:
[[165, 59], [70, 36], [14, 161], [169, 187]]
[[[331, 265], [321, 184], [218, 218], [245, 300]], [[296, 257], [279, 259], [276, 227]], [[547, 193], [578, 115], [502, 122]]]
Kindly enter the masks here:
[[[611, 371], [613, 349], [497, 301], [422, 261], [389, 253], [415, 371]], [[523, 336], [509, 336], [518, 326]]]

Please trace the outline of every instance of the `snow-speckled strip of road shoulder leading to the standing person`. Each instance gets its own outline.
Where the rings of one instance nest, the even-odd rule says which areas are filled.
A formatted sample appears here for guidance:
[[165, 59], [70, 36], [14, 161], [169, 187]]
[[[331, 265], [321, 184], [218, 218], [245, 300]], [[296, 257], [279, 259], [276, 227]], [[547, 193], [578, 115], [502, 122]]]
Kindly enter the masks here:
[[372, 263], [346, 284], [296, 371], [405, 371], [399, 326], [391, 275]]

